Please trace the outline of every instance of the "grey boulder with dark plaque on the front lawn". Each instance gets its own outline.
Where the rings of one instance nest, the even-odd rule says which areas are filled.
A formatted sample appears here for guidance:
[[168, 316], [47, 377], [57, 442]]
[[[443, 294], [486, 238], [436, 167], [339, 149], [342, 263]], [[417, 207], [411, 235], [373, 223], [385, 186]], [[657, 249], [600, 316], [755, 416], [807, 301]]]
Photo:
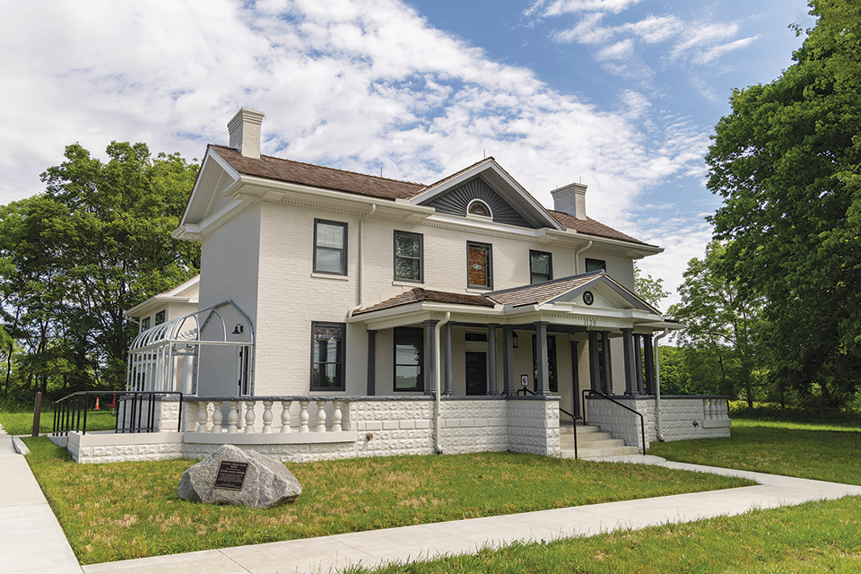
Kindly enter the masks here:
[[302, 485], [280, 462], [251, 450], [222, 445], [182, 474], [177, 494], [204, 504], [268, 509], [292, 502]]

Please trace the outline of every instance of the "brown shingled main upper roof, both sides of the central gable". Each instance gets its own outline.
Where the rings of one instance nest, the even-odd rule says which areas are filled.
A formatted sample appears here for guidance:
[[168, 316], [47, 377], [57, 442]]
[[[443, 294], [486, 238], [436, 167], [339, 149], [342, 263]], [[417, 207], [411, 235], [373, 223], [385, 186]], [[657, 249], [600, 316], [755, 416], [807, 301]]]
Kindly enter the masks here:
[[[336, 170], [335, 168], [326, 168], [312, 163], [303, 163], [302, 161], [283, 160], [271, 155], [261, 155], [259, 160], [255, 160], [254, 158], [245, 157], [233, 148], [224, 145], [210, 143], [209, 148], [213, 152], [218, 153], [234, 170], [239, 171], [241, 174], [256, 176], [258, 178], [268, 178], [305, 186], [345, 191], [360, 196], [381, 197], [393, 200], [409, 199], [419, 195], [423, 190], [428, 188], [428, 186], [421, 183], [378, 178], [377, 176], [369, 176], [354, 171]], [[489, 160], [492, 160], [492, 158], [479, 161], [478, 163]], [[478, 163], [474, 165], [478, 165]], [[474, 165], [465, 168], [465, 170], [471, 169]], [[438, 185], [449, 178], [453, 178], [465, 170], [460, 170], [456, 174], [442, 178], [433, 185]], [[587, 218], [580, 220], [567, 213], [552, 210], [547, 211], [561, 225], [568, 229], [576, 230], [578, 233], [648, 245], [648, 243], [625, 235], [622, 231], [614, 230], [603, 223], [596, 222], [594, 219]]]

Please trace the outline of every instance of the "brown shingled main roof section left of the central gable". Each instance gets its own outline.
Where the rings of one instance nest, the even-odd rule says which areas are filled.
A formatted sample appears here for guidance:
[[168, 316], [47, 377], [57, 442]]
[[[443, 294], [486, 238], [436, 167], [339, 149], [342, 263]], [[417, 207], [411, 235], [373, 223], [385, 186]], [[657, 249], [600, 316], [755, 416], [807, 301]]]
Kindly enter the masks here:
[[258, 178], [287, 181], [305, 186], [346, 191], [360, 196], [384, 199], [407, 199], [422, 191], [420, 183], [378, 178], [354, 171], [335, 170], [301, 161], [283, 160], [271, 155], [261, 155], [259, 160], [247, 158], [233, 148], [209, 145], [230, 167], [239, 173]]

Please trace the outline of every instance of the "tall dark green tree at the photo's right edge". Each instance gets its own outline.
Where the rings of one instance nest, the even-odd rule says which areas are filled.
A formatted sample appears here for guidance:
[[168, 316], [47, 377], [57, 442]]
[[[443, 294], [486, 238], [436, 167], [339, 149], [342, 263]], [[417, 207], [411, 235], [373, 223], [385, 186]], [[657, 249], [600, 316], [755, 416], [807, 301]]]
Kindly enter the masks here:
[[733, 92], [706, 161], [720, 272], [764, 300], [774, 368], [835, 407], [861, 370], [861, 4], [810, 5], [795, 63]]

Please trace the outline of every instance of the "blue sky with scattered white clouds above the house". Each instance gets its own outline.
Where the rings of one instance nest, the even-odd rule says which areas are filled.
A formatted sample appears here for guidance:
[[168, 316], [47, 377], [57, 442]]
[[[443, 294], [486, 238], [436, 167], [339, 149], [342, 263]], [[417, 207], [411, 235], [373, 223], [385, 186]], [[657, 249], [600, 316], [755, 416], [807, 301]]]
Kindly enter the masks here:
[[[80, 142], [200, 157], [241, 106], [264, 152], [430, 183], [485, 153], [536, 198], [665, 247], [674, 290], [710, 233], [709, 135], [733, 88], [791, 64], [801, 0], [2, 3], [0, 202]], [[674, 302], [675, 297], [662, 306]]]

